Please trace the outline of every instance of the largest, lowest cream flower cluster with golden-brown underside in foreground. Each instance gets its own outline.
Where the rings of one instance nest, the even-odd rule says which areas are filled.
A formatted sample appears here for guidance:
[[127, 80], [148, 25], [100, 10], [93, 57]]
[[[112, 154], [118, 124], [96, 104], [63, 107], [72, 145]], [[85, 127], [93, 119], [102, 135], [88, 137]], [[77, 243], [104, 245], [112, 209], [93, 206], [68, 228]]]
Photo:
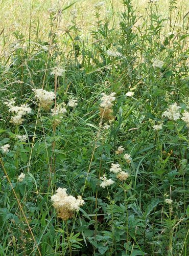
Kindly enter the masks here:
[[68, 196], [66, 188], [58, 188], [56, 194], [51, 197], [51, 201], [55, 209], [58, 211], [58, 217], [66, 221], [72, 217], [73, 212], [79, 210], [79, 207], [84, 204], [80, 196], [76, 199], [73, 196]]

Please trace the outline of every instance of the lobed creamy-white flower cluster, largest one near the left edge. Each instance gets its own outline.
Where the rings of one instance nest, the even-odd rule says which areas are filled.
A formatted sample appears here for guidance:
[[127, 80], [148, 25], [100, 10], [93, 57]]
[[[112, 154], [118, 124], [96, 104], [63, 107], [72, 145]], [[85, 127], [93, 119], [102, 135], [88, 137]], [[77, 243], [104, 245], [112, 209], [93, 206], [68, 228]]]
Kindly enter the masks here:
[[9, 112], [13, 112], [16, 115], [11, 117], [10, 122], [16, 125], [22, 124], [23, 119], [22, 116], [31, 113], [32, 109], [28, 106], [28, 104], [22, 104], [21, 106], [14, 106], [15, 98], [10, 101], [4, 102], [9, 107]]

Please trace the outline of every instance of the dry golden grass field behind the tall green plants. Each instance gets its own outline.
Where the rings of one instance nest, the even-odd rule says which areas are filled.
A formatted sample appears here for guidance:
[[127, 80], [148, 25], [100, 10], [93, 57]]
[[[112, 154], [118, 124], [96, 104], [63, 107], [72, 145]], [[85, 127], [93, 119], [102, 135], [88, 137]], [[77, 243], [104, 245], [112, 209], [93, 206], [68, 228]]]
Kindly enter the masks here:
[[[44, 40], [48, 37], [49, 31], [49, 12], [48, 9], [52, 6], [56, 6], [57, 9], [63, 9], [66, 6], [72, 4], [74, 1], [70, 0], [2, 0], [0, 4], [0, 29], [4, 30], [1, 36], [4, 36], [5, 41], [11, 42], [11, 34], [18, 29], [23, 35], [31, 35], [31, 40], [36, 41], [41, 38]], [[66, 28], [66, 25], [70, 22], [70, 11], [73, 9], [78, 10], [77, 22], [81, 28], [81, 34], [86, 35], [89, 30], [93, 28], [95, 23], [94, 18], [94, 5], [98, 0], [80, 0], [72, 7], [62, 12], [59, 19], [58, 31], [61, 35]], [[106, 17], [106, 10], [109, 10], [115, 20], [115, 23], [119, 22], [119, 13], [123, 10], [122, 0], [105, 0], [105, 5], [101, 10], [101, 18]], [[149, 3], [148, 0], [133, 0], [133, 5], [136, 8], [136, 13], [141, 18], [147, 17]], [[168, 17], [169, 13], [169, 1], [159, 0], [157, 3], [158, 13], [162, 17]], [[189, 9], [188, 0], [178, 0], [178, 9], [173, 11], [173, 16], [177, 17], [177, 23], [182, 22], [184, 14]], [[31, 26], [30, 26], [31, 25]], [[29, 29], [31, 27], [31, 30]]]

